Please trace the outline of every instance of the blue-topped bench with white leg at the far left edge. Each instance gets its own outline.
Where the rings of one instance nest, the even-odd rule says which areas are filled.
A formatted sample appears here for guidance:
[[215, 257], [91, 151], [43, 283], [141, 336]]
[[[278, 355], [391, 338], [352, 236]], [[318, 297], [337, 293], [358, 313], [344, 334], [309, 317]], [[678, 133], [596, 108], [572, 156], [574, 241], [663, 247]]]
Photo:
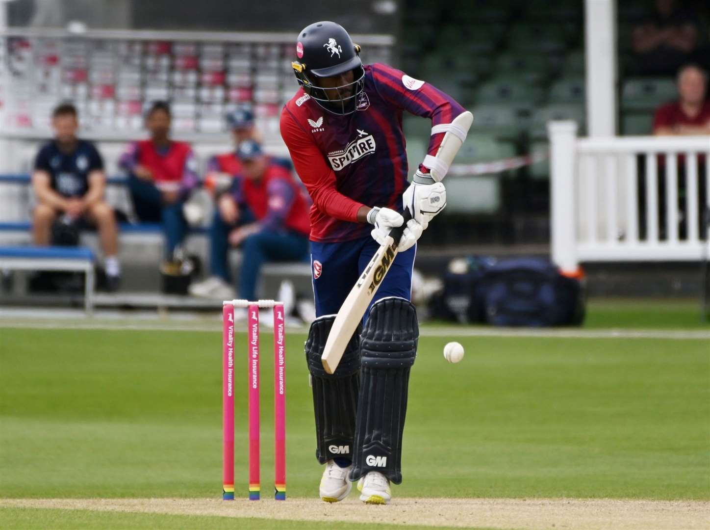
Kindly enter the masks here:
[[84, 309], [94, 309], [94, 253], [84, 247], [0, 247], [0, 269], [78, 271], [86, 276]]

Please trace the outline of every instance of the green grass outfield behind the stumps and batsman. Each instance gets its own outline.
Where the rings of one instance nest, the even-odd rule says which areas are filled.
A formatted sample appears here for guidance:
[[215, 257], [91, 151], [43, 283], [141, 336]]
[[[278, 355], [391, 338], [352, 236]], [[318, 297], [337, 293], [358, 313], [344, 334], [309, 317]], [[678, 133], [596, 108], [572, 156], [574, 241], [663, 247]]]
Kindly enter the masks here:
[[[616, 320], [601, 313], [591, 312], [591, 323], [623, 326], [623, 311]], [[632, 313], [634, 322], [657, 321], [638, 315], [641, 307]], [[697, 310], [671, 313], [667, 328], [682, 329], [689, 315], [687, 327], [697, 328]], [[287, 338], [287, 492], [317, 497], [322, 467], [314, 456], [305, 335]], [[461, 363], [444, 361], [448, 340], [464, 345]], [[270, 342], [264, 333], [265, 496], [273, 488]], [[246, 335], [236, 345], [244, 361], [236, 374], [239, 495], [247, 491]], [[217, 331], [1, 328], [0, 497], [219, 497], [221, 385]], [[710, 499], [709, 440], [706, 339], [422, 336], [404, 482], [394, 494]], [[0, 512], [4, 528], [92, 527], [80, 511], [35, 526], [23, 524], [31, 510]], [[158, 526], [151, 514], [96, 517], [96, 527]], [[228, 524], [174, 517], [166, 527]], [[298, 525], [279, 526], [317, 527]]]

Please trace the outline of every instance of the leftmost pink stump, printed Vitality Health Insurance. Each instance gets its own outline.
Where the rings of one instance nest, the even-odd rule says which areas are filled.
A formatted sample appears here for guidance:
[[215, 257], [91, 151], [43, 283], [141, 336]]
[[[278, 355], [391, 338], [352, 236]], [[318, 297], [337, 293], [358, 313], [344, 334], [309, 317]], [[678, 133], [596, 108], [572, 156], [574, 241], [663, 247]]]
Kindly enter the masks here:
[[234, 500], [234, 306], [222, 306], [222, 499]]

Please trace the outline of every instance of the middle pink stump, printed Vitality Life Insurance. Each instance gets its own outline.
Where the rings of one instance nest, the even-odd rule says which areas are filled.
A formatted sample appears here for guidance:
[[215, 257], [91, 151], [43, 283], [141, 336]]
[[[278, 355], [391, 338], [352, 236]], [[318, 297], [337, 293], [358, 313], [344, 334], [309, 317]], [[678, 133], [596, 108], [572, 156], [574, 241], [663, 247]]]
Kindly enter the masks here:
[[249, 305], [249, 500], [258, 501], [259, 481], [259, 308]]

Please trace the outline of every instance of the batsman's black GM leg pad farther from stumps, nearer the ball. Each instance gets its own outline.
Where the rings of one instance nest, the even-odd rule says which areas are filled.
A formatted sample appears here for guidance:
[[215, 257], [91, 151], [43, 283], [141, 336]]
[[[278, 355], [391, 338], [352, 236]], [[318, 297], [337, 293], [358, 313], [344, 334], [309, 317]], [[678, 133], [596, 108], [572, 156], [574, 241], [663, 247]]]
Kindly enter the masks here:
[[361, 334], [361, 388], [350, 480], [379, 471], [402, 482], [402, 434], [409, 372], [417, 356], [419, 325], [404, 298], [373, 304]]

